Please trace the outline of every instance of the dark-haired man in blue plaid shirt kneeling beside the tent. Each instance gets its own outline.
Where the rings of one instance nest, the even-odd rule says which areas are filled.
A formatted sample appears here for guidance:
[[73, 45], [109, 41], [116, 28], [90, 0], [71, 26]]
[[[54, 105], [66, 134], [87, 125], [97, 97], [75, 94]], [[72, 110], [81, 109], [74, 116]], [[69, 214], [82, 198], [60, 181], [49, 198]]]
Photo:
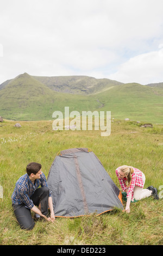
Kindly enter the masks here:
[[[30, 210], [45, 218], [46, 221], [54, 221], [54, 210], [51, 193], [47, 187], [45, 174], [41, 171], [40, 163], [29, 163], [27, 173], [21, 176], [12, 193], [12, 207], [16, 219], [22, 229], [33, 229], [34, 220]], [[39, 188], [39, 186], [41, 186]], [[38, 208], [36, 207], [38, 206]], [[48, 217], [48, 207], [51, 217]]]

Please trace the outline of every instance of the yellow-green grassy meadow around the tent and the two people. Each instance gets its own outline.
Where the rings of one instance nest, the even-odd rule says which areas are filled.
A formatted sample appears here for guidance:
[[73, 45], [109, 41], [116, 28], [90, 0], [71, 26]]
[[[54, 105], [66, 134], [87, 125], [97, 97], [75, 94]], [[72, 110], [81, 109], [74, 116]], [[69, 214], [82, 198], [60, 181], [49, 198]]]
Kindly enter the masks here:
[[[21, 230], [11, 206], [15, 182], [29, 162], [42, 164], [46, 177], [60, 150], [90, 148], [115, 184], [115, 169], [128, 164], [146, 175], [145, 187], [163, 185], [163, 125], [142, 128], [135, 121], [114, 119], [111, 135], [100, 131], [52, 131], [52, 121], [4, 120], [0, 124], [0, 244], [1, 245], [162, 245], [162, 199], [146, 198], [131, 203], [130, 214], [119, 209], [96, 216], [39, 221], [33, 230]], [[159, 192], [159, 190], [158, 190]], [[126, 205], [125, 202], [124, 207]]]

